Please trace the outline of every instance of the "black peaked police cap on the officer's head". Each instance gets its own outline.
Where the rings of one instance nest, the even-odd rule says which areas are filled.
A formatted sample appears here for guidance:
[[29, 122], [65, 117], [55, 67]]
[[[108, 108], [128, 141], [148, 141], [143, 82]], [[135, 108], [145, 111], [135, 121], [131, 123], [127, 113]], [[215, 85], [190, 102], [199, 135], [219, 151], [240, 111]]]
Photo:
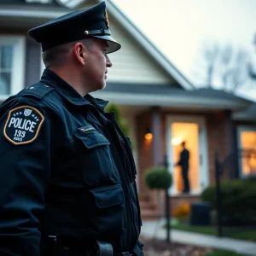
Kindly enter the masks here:
[[73, 11], [50, 20], [28, 31], [30, 37], [42, 45], [42, 51], [89, 37], [108, 41], [107, 53], [117, 51], [121, 45], [110, 35], [106, 3], [101, 2], [88, 9]]

